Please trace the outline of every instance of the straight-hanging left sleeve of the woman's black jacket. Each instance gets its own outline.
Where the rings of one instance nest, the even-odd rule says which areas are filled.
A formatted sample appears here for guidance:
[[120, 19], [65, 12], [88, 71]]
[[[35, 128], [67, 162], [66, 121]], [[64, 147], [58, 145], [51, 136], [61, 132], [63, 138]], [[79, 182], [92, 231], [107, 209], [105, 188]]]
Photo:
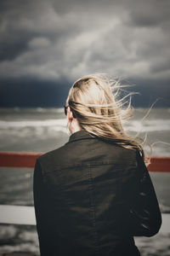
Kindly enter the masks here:
[[39, 240], [40, 253], [43, 256], [50, 254], [53, 250], [53, 218], [50, 211], [50, 198], [48, 189], [43, 180], [41, 165], [37, 159], [33, 175], [33, 198], [35, 215], [37, 220], [37, 235]]

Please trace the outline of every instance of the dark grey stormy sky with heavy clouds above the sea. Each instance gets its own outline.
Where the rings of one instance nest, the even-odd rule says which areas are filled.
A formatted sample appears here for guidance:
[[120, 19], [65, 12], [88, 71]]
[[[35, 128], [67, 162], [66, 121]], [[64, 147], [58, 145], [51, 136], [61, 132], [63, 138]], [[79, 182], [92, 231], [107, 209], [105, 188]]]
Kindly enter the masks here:
[[1, 0], [0, 12], [1, 106], [26, 94], [62, 105], [75, 79], [100, 72], [170, 106], [169, 0]]

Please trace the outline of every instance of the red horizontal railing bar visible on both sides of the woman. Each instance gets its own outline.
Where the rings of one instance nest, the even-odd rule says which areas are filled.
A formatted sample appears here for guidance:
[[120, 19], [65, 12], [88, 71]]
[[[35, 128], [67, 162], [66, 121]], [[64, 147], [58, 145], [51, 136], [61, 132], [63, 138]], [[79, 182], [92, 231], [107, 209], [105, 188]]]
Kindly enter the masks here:
[[[0, 152], [0, 167], [33, 168], [44, 152]], [[170, 172], [170, 157], [152, 156], [149, 172]]]

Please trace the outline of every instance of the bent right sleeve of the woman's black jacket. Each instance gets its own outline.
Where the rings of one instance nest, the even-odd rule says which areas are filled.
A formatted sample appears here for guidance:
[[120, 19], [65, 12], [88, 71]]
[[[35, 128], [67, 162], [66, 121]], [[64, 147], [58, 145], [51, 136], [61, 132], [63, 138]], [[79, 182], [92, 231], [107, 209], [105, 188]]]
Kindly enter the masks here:
[[128, 195], [127, 222], [131, 235], [155, 236], [161, 228], [161, 211], [150, 174], [139, 152], [137, 152], [137, 172]]

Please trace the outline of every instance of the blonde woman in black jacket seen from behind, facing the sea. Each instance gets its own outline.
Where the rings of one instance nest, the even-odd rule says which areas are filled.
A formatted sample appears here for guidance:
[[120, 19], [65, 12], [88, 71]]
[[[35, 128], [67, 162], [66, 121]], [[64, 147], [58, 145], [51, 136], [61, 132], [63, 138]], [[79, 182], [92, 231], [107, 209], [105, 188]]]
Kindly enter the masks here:
[[37, 158], [33, 192], [42, 256], [136, 256], [133, 236], [160, 230], [144, 150], [123, 130], [130, 103], [125, 108], [117, 100], [118, 88], [101, 75], [78, 79], [65, 106], [69, 141]]

